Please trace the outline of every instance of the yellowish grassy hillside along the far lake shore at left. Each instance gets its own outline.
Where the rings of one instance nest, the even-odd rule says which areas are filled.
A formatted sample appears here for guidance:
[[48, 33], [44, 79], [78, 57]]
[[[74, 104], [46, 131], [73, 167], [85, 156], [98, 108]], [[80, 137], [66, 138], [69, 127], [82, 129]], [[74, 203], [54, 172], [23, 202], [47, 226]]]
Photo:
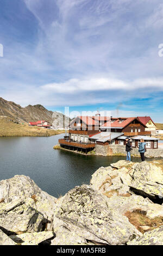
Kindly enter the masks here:
[[30, 127], [27, 124], [16, 124], [9, 117], [0, 116], [0, 137], [2, 136], [52, 136], [63, 133], [61, 130], [48, 130], [41, 127]]

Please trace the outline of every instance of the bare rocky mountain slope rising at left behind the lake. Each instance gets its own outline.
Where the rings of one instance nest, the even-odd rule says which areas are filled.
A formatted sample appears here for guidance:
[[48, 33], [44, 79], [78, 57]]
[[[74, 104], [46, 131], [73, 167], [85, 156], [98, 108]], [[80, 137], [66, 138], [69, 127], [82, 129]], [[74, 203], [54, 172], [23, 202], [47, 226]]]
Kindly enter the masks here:
[[[62, 117], [62, 119], [64, 117], [61, 113], [48, 111], [42, 105], [21, 107], [12, 101], [4, 100], [2, 97], [0, 97], [0, 115], [10, 117], [18, 123], [46, 120], [52, 124], [58, 117]], [[60, 123], [58, 123], [57, 128], [62, 128]]]

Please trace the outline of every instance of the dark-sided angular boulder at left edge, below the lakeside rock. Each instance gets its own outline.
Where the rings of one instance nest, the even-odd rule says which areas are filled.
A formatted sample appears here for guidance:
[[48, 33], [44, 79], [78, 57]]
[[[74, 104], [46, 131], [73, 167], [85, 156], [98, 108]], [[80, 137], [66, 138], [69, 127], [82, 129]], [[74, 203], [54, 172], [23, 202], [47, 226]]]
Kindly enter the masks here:
[[23, 201], [0, 204], [0, 227], [8, 234], [42, 231], [46, 223], [43, 215]]

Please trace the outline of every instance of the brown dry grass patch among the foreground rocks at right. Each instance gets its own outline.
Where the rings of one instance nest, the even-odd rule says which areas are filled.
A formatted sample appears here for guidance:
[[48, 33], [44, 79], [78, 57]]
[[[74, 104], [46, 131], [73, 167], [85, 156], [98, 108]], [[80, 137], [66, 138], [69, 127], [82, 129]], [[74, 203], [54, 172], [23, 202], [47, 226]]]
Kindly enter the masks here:
[[[133, 224], [141, 233], [159, 228], [161, 225], [163, 225], [162, 217], [155, 217], [153, 220], [150, 220], [146, 214], [146, 211], [136, 209], [133, 212], [127, 211], [124, 216], [128, 217], [129, 222]], [[143, 226], [147, 226], [149, 228], [144, 230]]]

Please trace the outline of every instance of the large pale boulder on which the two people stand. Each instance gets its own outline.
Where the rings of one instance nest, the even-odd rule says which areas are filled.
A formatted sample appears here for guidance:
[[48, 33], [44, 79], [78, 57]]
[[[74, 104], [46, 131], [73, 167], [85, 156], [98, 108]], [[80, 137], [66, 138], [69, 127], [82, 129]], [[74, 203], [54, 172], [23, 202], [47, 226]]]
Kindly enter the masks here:
[[91, 186], [111, 197], [129, 196], [132, 193], [148, 197], [153, 202], [163, 203], [162, 164], [149, 162], [133, 163], [124, 160], [101, 167], [93, 175]]

